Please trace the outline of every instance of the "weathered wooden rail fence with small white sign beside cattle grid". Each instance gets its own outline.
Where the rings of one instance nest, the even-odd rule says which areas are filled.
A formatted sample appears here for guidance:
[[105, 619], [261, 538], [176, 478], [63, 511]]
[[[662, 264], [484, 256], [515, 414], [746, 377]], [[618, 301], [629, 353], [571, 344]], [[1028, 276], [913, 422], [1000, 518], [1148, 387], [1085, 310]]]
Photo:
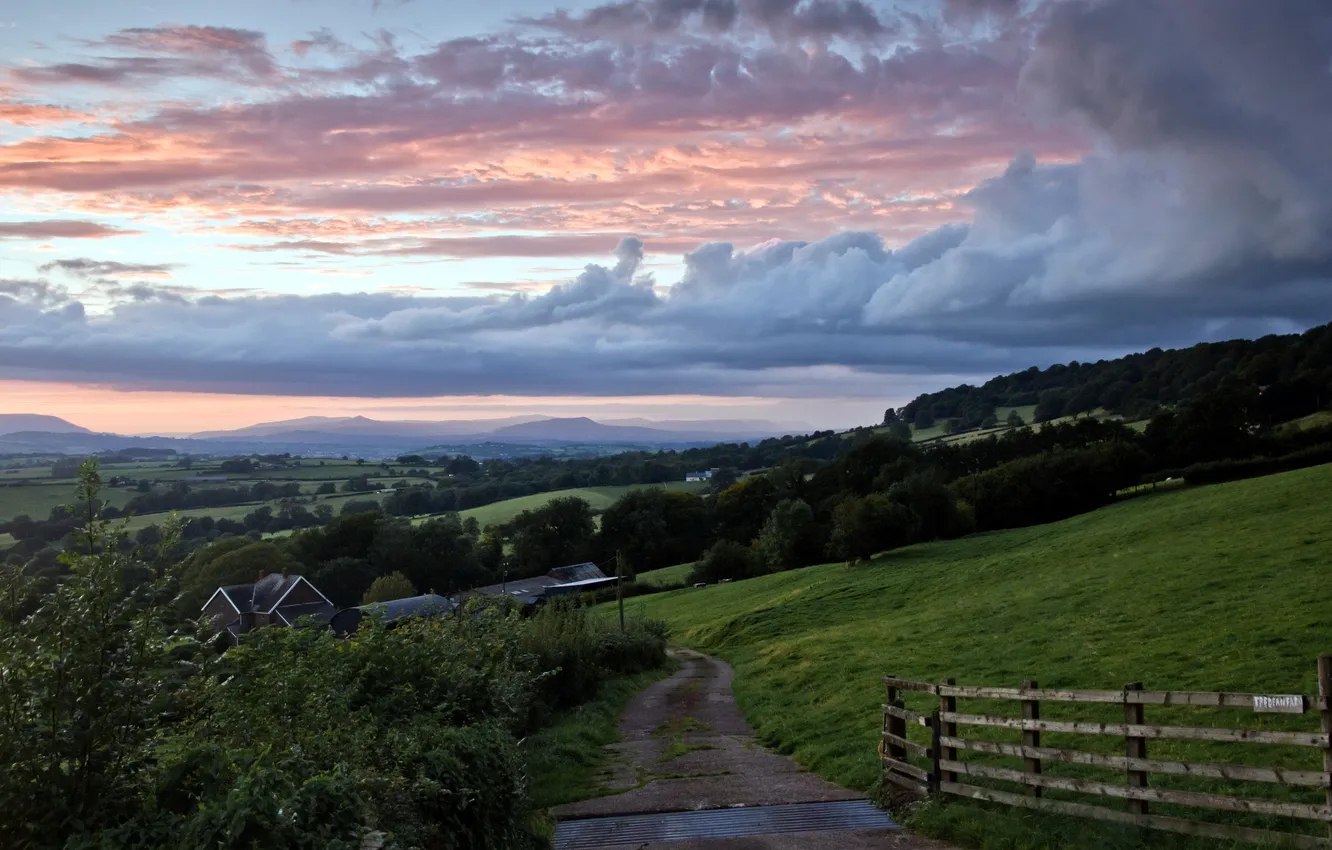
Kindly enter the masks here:
[[[1034, 681], [1023, 682], [1022, 687], [966, 687], [956, 685], [952, 679], [931, 685], [890, 675], [883, 679], [888, 690], [887, 703], [883, 706], [883, 739], [879, 745], [883, 778], [886, 782], [891, 782], [920, 797], [927, 794], [952, 794], [1010, 806], [1098, 818], [1207, 838], [1285, 842], [1285, 846], [1293, 847], [1332, 847], [1332, 838], [1321, 838], [1308, 833], [1253, 829], [1152, 813], [1154, 805], [1164, 803], [1217, 809], [1229, 813], [1323, 821], [1328, 825], [1328, 834], [1332, 835], [1332, 747], [1329, 747], [1329, 737], [1332, 737], [1332, 709], [1329, 709], [1329, 698], [1332, 698], [1332, 655], [1319, 657], [1317, 673], [1319, 695], [1316, 698], [1303, 694], [1144, 690], [1140, 682], [1131, 682], [1120, 690], [1042, 689]], [[910, 693], [938, 697], [938, 707], [926, 711], [907, 709], [903, 695]], [[1018, 702], [1020, 703], [1020, 717], [963, 713], [958, 710], [958, 699]], [[1040, 709], [1042, 705], [1048, 703], [1120, 705], [1123, 706], [1123, 722], [1043, 719]], [[1320, 715], [1321, 729], [1317, 731], [1288, 731], [1217, 726], [1159, 726], [1147, 722], [1146, 713], [1148, 706], [1248, 709], [1263, 714], [1308, 714], [1312, 710]], [[1062, 713], [1076, 713], [1076, 710], [1078, 706], [1072, 706], [1068, 711]], [[910, 739], [908, 729], [916, 726], [924, 727], [928, 743]], [[1022, 733], [1022, 743], [984, 741], [974, 737], [972, 733], [962, 737], [958, 733], [959, 726], [982, 730], [1016, 730]], [[1042, 733], [1114, 735], [1123, 738], [1124, 754], [1111, 755], [1078, 749], [1042, 746]], [[975, 734], [982, 733], [978, 731]], [[1010, 737], [1016, 738], [1015, 734]], [[1323, 769], [1257, 767], [1148, 758], [1148, 741], [1158, 739], [1316, 747], [1321, 750]], [[962, 753], [964, 751], [982, 754], [979, 755], [982, 761], [963, 759]], [[1015, 766], [1004, 767], [994, 763], [1003, 758], [1022, 759], [1022, 769], [1018, 770]], [[1050, 775], [1042, 769], [1050, 762], [1119, 770], [1123, 771], [1123, 781], [1104, 782], [1067, 775]], [[923, 767], [923, 763], [928, 763], [928, 767]], [[1287, 802], [1152, 787], [1148, 782], [1148, 777], [1152, 774], [1323, 789], [1323, 802], [1321, 805], [1313, 802]], [[974, 783], [974, 778], [982, 779], [986, 785]], [[994, 787], [1003, 782], [1024, 786], [1023, 793]], [[1103, 805], [1090, 805], [1070, 799], [1051, 799], [1046, 795], [1046, 790], [1075, 791], [1079, 794], [1118, 798], [1126, 802], [1122, 809], [1111, 809]], [[1067, 794], [1062, 795], [1068, 797]]]

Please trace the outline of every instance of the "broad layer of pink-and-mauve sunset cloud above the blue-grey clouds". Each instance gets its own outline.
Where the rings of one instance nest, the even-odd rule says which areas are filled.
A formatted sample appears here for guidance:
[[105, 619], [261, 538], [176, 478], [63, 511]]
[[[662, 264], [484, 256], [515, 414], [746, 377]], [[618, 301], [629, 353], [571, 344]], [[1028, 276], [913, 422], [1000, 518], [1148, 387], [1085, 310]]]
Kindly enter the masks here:
[[[0, 145], [0, 193], [59, 196], [97, 214], [185, 214], [290, 250], [574, 256], [591, 253], [598, 233], [638, 232], [679, 253], [713, 238], [856, 226], [906, 240], [954, 220], [952, 199], [1015, 149], [1046, 160], [1080, 152], [1078, 137], [1034, 128], [1014, 104], [1027, 56], [1020, 19], [970, 41], [922, 29], [887, 52], [774, 36], [779, 25], [801, 39], [818, 27], [899, 27], [872, 23], [856, 3], [746, 0], [735, 19], [743, 37], [709, 29], [706, 0], [619, 7], [630, 17], [646, 9], [649, 23], [683, 9], [681, 25], [703, 29], [655, 43], [551, 19], [539, 37], [424, 51], [388, 35], [358, 48], [321, 31], [281, 59], [252, 31], [119, 31], [88, 43], [105, 56], [79, 68], [11, 79], [29, 93], [57, 92], [61, 75], [121, 83], [168, 71], [264, 85], [245, 100], [194, 104], [136, 89], [117, 104], [135, 117]], [[579, 20], [598, 15], [619, 12]], [[306, 63], [313, 53], [318, 63]], [[569, 232], [579, 236], [541, 241]]]

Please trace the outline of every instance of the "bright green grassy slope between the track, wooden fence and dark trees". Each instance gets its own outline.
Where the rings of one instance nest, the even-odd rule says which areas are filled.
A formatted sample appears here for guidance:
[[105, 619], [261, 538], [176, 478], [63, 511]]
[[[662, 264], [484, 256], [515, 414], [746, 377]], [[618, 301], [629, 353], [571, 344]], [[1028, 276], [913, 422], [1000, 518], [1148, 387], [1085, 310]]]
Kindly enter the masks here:
[[[677, 641], [731, 661], [737, 699], [767, 742], [836, 782], [868, 787], [878, 773], [879, 677], [888, 671], [972, 685], [1030, 677], [1051, 687], [1143, 681], [1313, 693], [1315, 657], [1332, 651], [1329, 504], [1332, 465], [1139, 497], [1064, 522], [896, 550], [870, 565], [814, 566], [629, 606], [670, 622]], [[1171, 711], [1189, 710], [1154, 709], [1148, 722], [1255, 721]], [[1316, 726], [1309, 718], [1261, 719]], [[1197, 755], [1191, 746], [1162, 742], [1154, 755]], [[1245, 747], [1249, 755], [1255, 749]], [[1303, 766], [1319, 769], [1316, 751], [1300, 755]], [[1243, 761], [1245, 753], [1204, 757]]]

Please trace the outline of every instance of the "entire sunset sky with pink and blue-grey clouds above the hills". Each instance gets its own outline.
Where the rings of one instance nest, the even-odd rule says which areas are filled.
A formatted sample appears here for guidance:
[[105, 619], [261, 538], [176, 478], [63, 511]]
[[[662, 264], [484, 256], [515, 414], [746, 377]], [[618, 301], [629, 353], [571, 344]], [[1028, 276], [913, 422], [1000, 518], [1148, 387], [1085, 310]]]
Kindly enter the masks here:
[[0, 412], [876, 421], [1332, 318], [1327, 0], [0, 8]]

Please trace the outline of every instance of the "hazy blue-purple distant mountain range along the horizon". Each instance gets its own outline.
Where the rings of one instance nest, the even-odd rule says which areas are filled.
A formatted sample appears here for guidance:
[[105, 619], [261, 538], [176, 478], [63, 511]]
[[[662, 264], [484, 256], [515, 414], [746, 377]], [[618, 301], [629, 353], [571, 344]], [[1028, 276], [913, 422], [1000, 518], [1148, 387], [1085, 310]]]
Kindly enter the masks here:
[[[119, 450], [127, 448], [174, 449], [193, 454], [277, 453], [357, 454], [388, 457], [425, 450], [456, 453], [468, 446], [485, 446], [492, 457], [509, 456], [502, 446], [521, 446], [513, 456], [543, 453], [542, 446], [607, 446], [609, 452], [629, 448], [713, 445], [757, 441], [807, 428], [782, 426], [765, 420], [615, 420], [598, 422], [587, 417], [514, 416], [496, 420], [397, 420], [381, 421], [364, 416], [309, 416], [296, 420], [260, 422], [233, 430], [206, 430], [189, 437], [133, 437], [95, 433], [53, 416], [0, 414], [0, 453], [67, 454]], [[595, 449], [597, 453], [603, 453]]]

